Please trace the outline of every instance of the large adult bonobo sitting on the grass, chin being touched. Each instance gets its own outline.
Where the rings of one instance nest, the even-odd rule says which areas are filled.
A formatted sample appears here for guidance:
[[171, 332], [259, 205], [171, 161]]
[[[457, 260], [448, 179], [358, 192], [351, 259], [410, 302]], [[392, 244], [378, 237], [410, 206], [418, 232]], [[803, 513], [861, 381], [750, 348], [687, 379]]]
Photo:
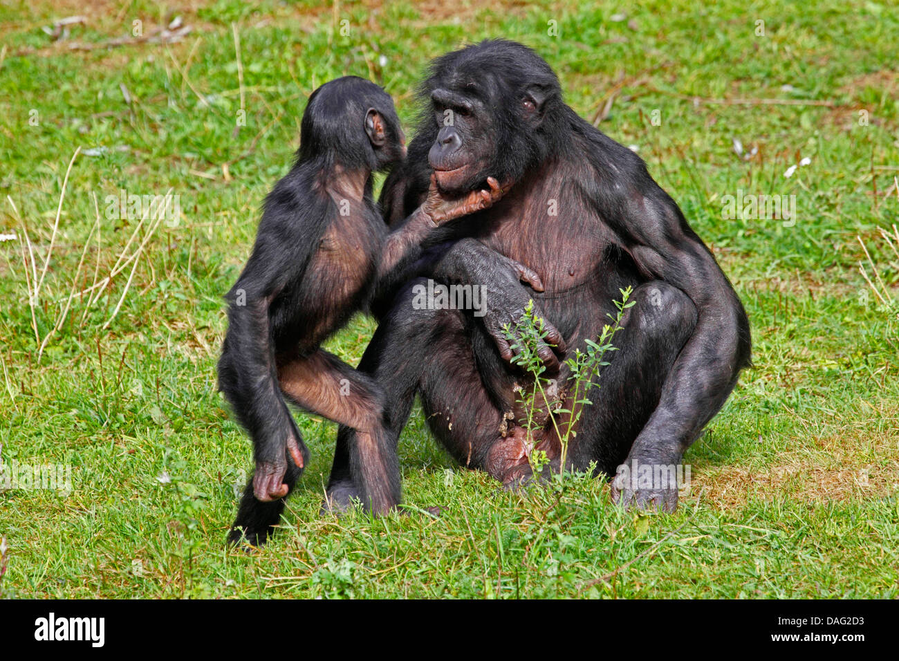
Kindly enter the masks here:
[[[435, 280], [484, 288], [483, 316], [417, 309], [413, 282], [381, 310], [360, 370], [385, 389], [393, 447], [418, 393], [432, 433], [461, 464], [512, 484], [530, 476], [527, 454], [539, 443], [557, 467], [551, 424], [540, 438], [515, 426], [515, 390], [525, 377], [509, 364], [503, 326], [534, 299], [556, 344], [540, 347], [540, 356], [555, 370], [595, 339], [619, 288], [632, 285], [636, 304], [583, 410], [568, 467], [595, 461], [614, 474], [635, 460], [679, 464], [749, 364], [750, 334], [730, 282], [677, 204], [639, 156], [565, 105], [552, 69], [521, 44], [490, 40], [437, 58], [423, 101], [432, 112], [381, 195], [388, 222], [423, 202], [432, 169], [447, 195], [480, 190], [488, 176], [512, 188], [491, 209], [456, 221], [451, 234], [442, 229], [443, 242], [428, 253]], [[521, 284], [509, 260], [537, 272], [543, 291]], [[348, 460], [354, 442], [341, 428], [328, 486], [333, 507], [360, 496], [358, 467]], [[613, 497], [677, 505], [671, 483], [629, 481], [613, 487]]]

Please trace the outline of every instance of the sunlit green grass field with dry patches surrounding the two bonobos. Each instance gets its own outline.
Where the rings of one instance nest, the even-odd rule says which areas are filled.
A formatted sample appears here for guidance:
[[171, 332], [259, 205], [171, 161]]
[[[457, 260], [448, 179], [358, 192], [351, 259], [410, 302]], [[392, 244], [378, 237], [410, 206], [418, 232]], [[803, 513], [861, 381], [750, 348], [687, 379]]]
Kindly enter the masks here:
[[[84, 4], [0, 0], [4, 597], [899, 596], [899, 319], [859, 272], [899, 299], [878, 231], [899, 210], [895, 7]], [[638, 148], [747, 308], [755, 366], [688, 452], [689, 496], [638, 515], [591, 479], [506, 494], [416, 412], [405, 503], [441, 516], [337, 519], [334, 424], [298, 415], [313, 460], [283, 529], [228, 549], [251, 462], [216, 390], [221, 297], [307, 95], [366, 76], [411, 129], [426, 62], [497, 36]], [[172, 218], [120, 213], [169, 191]], [[734, 218], [740, 194], [795, 214]], [[331, 349], [354, 364], [373, 329]]]

